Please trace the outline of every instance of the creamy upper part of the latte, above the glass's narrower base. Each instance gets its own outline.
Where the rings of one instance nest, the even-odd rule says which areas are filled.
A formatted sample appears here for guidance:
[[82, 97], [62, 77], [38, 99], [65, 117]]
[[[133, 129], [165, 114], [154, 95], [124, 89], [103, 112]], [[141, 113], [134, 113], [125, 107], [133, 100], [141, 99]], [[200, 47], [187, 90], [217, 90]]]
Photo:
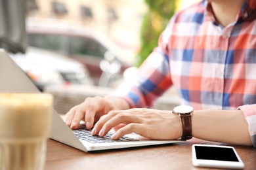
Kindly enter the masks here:
[[52, 102], [46, 93], [0, 93], [0, 138], [47, 136]]

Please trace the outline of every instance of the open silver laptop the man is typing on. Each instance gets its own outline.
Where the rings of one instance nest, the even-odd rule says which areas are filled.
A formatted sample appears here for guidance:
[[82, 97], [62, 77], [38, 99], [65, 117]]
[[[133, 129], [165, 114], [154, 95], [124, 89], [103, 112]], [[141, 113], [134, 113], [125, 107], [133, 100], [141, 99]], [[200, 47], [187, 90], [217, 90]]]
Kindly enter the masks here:
[[[32, 80], [3, 49], [0, 49], [0, 92], [40, 93]], [[92, 140], [84, 139], [86, 135]], [[118, 141], [112, 141], [110, 140], [110, 135], [105, 137], [91, 136], [90, 132], [85, 132], [83, 124], [79, 126], [79, 129], [72, 130], [66, 126], [60, 115], [53, 109], [50, 138], [84, 152], [182, 142], [181, 140], [150, 140], [135, 133], [125, 135]], [[105, 139], [106, 141], [104, 141]]]

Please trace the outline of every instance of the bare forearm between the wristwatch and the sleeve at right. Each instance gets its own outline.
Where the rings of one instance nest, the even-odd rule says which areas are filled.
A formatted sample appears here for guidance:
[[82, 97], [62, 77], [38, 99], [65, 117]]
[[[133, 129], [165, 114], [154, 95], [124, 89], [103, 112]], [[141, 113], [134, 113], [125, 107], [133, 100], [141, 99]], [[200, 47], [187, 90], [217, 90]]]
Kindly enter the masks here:
[[194, 110], [192, 135], [207, 141], [252, 145], [241, 110]]

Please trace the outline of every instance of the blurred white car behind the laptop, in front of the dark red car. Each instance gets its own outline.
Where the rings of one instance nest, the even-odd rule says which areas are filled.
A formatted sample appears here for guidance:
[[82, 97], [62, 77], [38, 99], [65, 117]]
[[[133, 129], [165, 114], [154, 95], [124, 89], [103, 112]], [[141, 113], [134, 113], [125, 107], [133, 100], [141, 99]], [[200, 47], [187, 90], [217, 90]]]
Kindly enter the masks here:
[[10, 54], [41, 92], [58, 84], [93, 84], [89, 71], [75, 59], [29, 46], [25, 54]]

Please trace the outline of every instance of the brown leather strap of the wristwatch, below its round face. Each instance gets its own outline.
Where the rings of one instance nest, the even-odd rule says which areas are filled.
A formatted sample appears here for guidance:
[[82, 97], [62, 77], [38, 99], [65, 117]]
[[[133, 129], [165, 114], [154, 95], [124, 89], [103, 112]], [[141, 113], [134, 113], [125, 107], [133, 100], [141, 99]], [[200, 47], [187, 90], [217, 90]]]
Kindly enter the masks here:
[[182, 122], [182, 140], [187, 140], [192, 138], [192, 126], [191, 126], [191, 115], [180, 114]]

